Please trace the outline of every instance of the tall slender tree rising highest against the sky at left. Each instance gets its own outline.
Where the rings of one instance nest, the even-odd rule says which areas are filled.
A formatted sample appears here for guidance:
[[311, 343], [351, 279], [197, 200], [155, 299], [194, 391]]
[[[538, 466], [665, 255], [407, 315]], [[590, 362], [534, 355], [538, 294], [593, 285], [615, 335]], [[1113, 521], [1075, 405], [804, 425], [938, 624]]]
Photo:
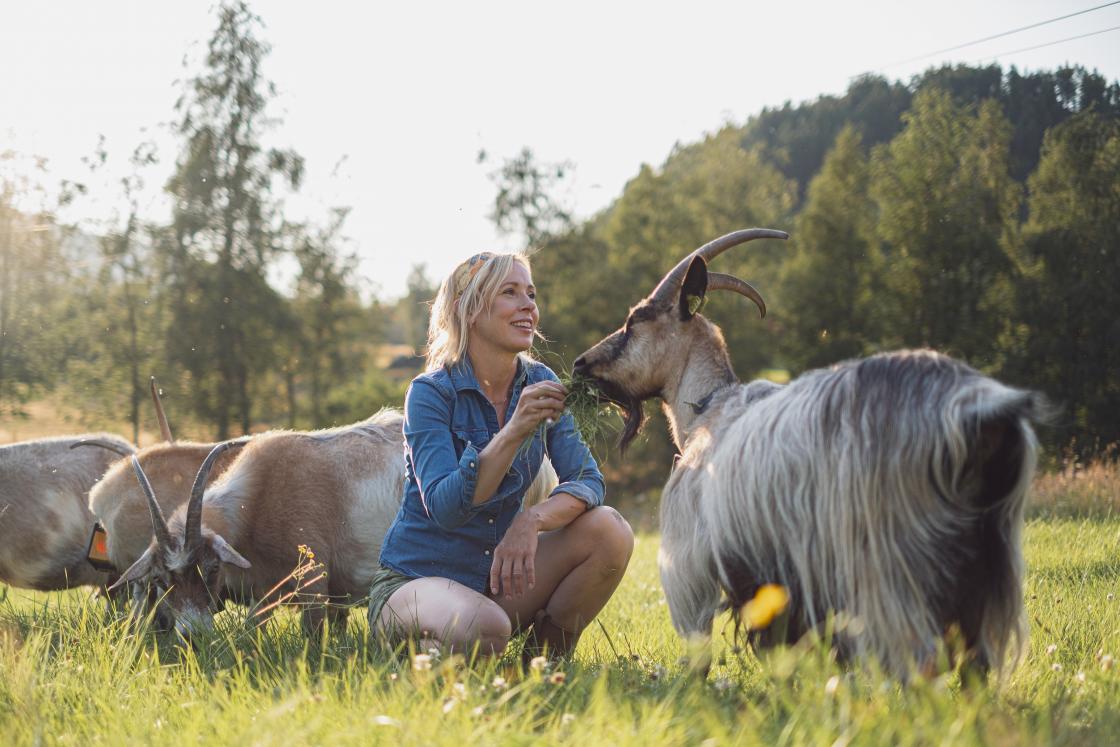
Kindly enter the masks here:
[[167, 186], [176, 236], [169, 343], [192, 374], [196, 404], [224, 439], [235, 412], [249, 431], [253, 372], [276, 363], [268, 336], [258, 335], [268, 332], [277, 301], [265, 281], [278, 244], [276, 193], [280, 180], [299, 186], [304, 162], [261, 143], [276, 123], [265, 116], [276, 87], [261, 69], [269, 47], [258, 36], [260, 19], [241, 1], [217, 15], [205, 67], [176, 106], [184, 147]]

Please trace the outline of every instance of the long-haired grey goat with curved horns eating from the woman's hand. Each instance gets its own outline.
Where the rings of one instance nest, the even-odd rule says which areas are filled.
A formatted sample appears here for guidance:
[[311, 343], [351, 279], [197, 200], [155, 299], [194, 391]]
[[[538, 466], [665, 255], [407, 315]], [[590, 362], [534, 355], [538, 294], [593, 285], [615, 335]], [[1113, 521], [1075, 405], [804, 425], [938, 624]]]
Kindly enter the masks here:
[[[673, 625], [710, 635], [720, 607], [765, 583], [790, 595], [787, 642], [838, 615], [844, 656], [906, 678], [948, 634], [980, 671], [1017, 660], [1023, 512], [1044, 402], [931, 351], [809, 372], [787, 386], [741, 385], [719, 328], [698, 314], [709, 290], [750, 298], [707, 262], [780, 231], [701, 246], [575, 362], [626, 414], [620, 446], [660, 398], [680, 458], [661, 503], [662, 585]], [[841, 625], [842, 620], [850, 624]]]

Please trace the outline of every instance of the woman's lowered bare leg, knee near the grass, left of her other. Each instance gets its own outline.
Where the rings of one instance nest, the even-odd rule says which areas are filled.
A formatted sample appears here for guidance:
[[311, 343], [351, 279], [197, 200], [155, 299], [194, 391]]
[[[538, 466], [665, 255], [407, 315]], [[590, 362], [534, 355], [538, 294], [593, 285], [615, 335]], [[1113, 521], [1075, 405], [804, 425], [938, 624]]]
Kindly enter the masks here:
[[390, 637], [414, 636], [430, 645], [469, 654], [500, 655], [510, 641], [510, 617], [493, 600], [446, 578], [409, 581], [389, 597], [379, 629]]

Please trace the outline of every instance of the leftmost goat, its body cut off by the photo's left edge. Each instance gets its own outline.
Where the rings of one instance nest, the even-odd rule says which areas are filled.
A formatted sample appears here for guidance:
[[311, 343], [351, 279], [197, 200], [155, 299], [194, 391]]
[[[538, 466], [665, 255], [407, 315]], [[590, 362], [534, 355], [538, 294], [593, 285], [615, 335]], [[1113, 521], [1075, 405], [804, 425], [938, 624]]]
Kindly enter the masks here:
[[121, 454], [133, 450], [108, 433], [0, 447], [0, 580], [44, 591], [109, 581], [86, 562], [94, 524], [87, 502], [91, 486], [116, 457], [71, 451], [92, 439]]

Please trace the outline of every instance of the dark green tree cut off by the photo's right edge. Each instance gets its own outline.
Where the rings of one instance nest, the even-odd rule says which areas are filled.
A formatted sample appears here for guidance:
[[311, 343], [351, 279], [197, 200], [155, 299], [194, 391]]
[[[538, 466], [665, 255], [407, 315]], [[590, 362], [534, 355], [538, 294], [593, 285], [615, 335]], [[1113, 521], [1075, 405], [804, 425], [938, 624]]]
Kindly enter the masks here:
[[1008, 373], [1063, 405], [1085, 454], [1120, 441], [1120, 122], [1082, 112], [1046, 134], [1030, 177]]

